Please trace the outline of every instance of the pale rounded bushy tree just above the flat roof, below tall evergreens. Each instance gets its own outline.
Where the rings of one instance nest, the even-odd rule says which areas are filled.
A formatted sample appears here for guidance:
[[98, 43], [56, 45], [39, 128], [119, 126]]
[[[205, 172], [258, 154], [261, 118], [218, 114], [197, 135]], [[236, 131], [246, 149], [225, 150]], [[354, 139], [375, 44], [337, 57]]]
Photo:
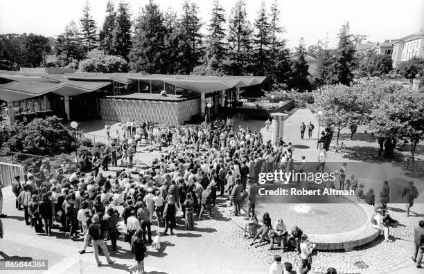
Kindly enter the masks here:
[[87, 53], [87, 59], [80, 62], [78, 69], [99, 73], [126, 72], [127, 61], [121, 56], [106, 55], [103, 51], [95, 49]]

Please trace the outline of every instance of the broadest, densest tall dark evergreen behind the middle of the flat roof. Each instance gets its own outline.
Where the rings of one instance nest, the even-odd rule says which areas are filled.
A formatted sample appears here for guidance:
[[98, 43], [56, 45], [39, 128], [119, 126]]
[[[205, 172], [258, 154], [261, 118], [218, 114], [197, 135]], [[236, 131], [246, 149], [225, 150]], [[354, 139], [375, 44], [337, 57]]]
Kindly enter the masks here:
[[144, 6], [136, 19], [130, 67], [132, 71], [164, 73], [164, 16], [152, 0]]

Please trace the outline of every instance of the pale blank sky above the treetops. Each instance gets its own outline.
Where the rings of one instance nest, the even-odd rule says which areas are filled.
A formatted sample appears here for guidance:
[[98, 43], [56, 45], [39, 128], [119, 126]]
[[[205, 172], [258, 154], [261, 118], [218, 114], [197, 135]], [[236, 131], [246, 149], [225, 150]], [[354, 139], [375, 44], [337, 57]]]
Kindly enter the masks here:
[[[119, 0], [115, 0], [117, 4]], [[260, 1], [245, 0], [247, 17], [254, 22]], [[276, 0], [281, 10], [280, 24], [285, 28], [281, 35], [288, 48], [299, 44], [303, 37], [306, 46], [324, 40], [329, 47], [337, 46], [337, 33], [345, 22], [349, 22], [351, 33], [367, 35], [371, 42], [398, 39], [424, 29], [423, 0]], [[127, 0], [132, 17], [148, 0]], [[161, 10], [168, 8], [178, 14], [183, 0], [155, 0]], [[226, 10], [227, 20], [236, 0], [220, 0]], [[274, 0], [265, 0], [270, 10]], [[107, 0], [89, 0], [91, 14], [98, 26], [105, 19]], [[204, 25], [210, 19], [212, 0], [197, 0], [200, 17]], [[0, 33], [35, 33], [55, 37], [73, 19], [77, 23], [82, 15], [85, 0], [0, 0]], [[202, 28], [206, 33], [206, 28]]]

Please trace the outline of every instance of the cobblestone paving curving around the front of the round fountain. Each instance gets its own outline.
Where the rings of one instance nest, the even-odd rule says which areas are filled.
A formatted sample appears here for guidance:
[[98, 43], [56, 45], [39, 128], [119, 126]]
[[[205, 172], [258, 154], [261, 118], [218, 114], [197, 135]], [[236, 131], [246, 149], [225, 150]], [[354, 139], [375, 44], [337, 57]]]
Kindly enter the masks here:
[[[281, 250], [268, 250], [268, 243], [261, 244], [258, 248], [250, 246], [251, 239], [243, 237], [243, 230], [233, 221], [223, 222], [229, 219], [231, 208], [215, 208], [217, 218], [208, 220], [209, 226], [216, 229], [215, 236], [220, 241], [228, 244], [234, 250], [247, 254], [271, 264], [274, 255], [281, 255], [283, 262], [291, 262], [294, 269], [300, 268], [301, 259], [294, 251], [282, 253]], [[395, 209], [396, 210], [396, 209]], [[413, 230], [407, 223], [405, 213], [391, 211], [391, 216], [398, 219], [399, 224], [390, 228], [390, 236], [393, 242], [385, 242], [383, 237], [378, 237], [369, 244], [354, 248], [354, 250], [316, 251], [312, 256], [312, 273], [325, 273], [328, 267], [337, 269], [337, 273], [380, 273], [403, 264], [410, 260], [413, 246]], [[240, 217], [238, 217], [240, 218]], [[358, 255], [361, 256], [359, 259]], [[352, 264], [351, 264], [352, 262]], [[355, 264], [355, 262], [360, 262]]]

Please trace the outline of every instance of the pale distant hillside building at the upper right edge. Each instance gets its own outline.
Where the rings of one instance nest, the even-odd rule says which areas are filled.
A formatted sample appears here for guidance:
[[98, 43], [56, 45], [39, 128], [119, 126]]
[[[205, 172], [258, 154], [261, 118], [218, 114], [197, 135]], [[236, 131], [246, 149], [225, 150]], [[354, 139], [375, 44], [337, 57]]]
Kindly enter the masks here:
[[400, 62], [411, 60], [412, 57], [424, 57], [424, 31], [400, 38], [393, 43], [391, 60], [396, 68]]

